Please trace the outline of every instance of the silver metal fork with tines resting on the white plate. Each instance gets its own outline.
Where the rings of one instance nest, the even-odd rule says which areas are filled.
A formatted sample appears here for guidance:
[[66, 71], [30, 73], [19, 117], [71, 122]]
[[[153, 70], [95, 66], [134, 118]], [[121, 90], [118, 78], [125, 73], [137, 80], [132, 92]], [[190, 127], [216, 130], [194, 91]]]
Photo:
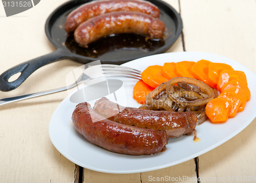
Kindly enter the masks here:
[[140, 71], [135, 70], [134, 68], [121, 66], [121, 65], [115, 65], [115, 64], [93, 65], [84, 69], [80, 77], [74, 83], [68, 86], [64, 86], [56, 89], [50, 89], [47, 91], [40, 91], [33, 94], [0, 99], [0, 105], [69, 90], [82, 83], [86, 83], [90, 80], [103, 78], [103, 77], [126, 77], [126, 78], [140, 80], [141, 79], [140, 73], [141, 73]]

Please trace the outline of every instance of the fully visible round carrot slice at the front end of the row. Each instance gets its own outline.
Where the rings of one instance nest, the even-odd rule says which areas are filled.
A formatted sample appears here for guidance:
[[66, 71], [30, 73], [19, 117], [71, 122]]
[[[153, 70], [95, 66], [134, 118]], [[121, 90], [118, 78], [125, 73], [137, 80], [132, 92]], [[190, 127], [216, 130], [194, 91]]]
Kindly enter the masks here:
[[228, 119], [230, 109], [227, 99], [215, 98], [207, 103], [205, 113], [211, 123], [224, 123]]

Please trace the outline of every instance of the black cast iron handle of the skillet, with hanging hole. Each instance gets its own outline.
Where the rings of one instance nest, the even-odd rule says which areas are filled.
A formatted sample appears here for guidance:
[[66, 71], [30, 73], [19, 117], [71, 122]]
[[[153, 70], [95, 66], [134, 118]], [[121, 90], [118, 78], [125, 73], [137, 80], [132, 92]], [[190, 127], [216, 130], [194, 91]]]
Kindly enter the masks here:
[[[65, 58], [69, 58], [69, 56], [67, 56], [67, 52], [62, 49], [57, 49], [52, 53], [20, 63], [0, 75], [0, 90], [13, 90], [22, 84], [34, 71], [36, 71], [41, 66]], [[20, 76], [15, 81], [9, 82], [9, 78], [17, 73], [21, 73]]]

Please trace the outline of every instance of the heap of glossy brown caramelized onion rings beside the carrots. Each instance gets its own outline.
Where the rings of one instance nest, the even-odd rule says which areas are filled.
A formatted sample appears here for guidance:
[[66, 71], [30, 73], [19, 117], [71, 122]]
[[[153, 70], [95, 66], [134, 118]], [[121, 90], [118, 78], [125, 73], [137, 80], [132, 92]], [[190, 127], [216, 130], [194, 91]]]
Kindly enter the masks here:
[[146, 96], [146, 104], [141, 109], [191, 111], [201, 124], [207, 119], [205, 105], [218, 97], [218, 91], [192, 78], [177, 77], [160, 84]]

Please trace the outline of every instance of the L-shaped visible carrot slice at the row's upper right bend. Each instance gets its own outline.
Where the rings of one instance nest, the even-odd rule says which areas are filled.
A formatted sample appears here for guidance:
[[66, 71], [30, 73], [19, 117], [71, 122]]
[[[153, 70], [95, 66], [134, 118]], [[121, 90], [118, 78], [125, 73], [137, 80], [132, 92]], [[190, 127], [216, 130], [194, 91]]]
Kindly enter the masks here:
[[208, 84], [212, 88], [217, 88], [219, 76], [223, 70], [233, 70], [233, 68], [225, 63], [210, 63], [208, 65], [206, 84]]

